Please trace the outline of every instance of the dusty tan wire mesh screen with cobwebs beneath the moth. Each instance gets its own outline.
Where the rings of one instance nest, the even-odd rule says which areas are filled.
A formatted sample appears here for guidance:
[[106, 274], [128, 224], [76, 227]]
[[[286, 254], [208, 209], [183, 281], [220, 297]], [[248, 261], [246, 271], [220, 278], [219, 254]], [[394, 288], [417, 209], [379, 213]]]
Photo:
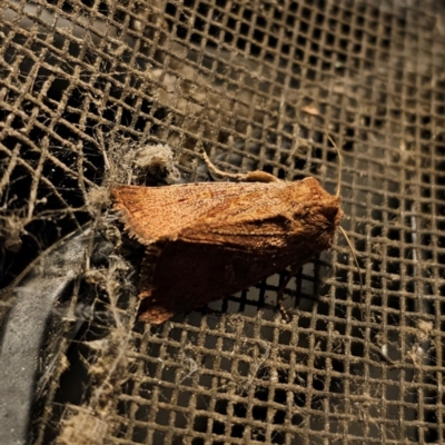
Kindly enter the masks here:
[[[3, 0], [0, 55], [3, 382], [37, 338], [23, 443], [444, 442], [441, 2]], [[209, 180], [204, 147], [334, 192], [326, 131], [360, 273], [337, 237], [289, 320], [284, 273], [137, 322], [109, 187]]]

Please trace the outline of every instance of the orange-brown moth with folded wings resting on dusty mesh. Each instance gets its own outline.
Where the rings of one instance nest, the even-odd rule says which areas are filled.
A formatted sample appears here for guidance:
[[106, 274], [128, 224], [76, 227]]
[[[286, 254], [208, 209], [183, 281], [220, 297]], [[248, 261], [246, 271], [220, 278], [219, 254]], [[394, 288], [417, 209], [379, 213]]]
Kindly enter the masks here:
[[286, 182], [263, 171], [241, 178], [247, 182], [111, 190], [126, 229], [146, 246], [141, 320], [162, 323], [287, 266], [296, 270], [332, 246], [340, 200], [315, 178]]

